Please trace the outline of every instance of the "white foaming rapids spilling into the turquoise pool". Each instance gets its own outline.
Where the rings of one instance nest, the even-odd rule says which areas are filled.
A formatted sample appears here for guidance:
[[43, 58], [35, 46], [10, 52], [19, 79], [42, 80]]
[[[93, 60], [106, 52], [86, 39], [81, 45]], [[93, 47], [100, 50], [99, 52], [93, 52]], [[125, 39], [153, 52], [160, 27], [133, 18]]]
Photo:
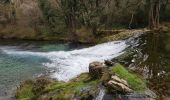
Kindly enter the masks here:
[[55, 69], [55, 73], [51, 77], [68, 81], [83, 72], [88, 72], [90, 62], [104, 61], [117, 57], [124, 53], [128, 46], [126, 41], [115, 41], [72, 51], [32, 52], [14, 49], [2, 49], [2, 51], [16, 56], [46, 57], [50, 62], [42, 64]]

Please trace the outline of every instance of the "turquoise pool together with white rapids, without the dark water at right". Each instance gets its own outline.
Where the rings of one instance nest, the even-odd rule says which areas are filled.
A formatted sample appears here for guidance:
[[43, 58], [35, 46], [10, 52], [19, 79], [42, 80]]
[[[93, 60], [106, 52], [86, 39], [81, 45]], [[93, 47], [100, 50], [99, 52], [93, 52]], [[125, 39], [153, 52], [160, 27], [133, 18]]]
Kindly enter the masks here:
[[[72, 47], [69, 44], [1, 41], [0, 100], [9, 99], [19, 82], [41, 74], [69, 81], [88, 72], [93, 61], [112, 59], [124, 53], [133, 39], [108, 42], [92, 47]], [[80, 48], [81, 47], [81, 48]]]

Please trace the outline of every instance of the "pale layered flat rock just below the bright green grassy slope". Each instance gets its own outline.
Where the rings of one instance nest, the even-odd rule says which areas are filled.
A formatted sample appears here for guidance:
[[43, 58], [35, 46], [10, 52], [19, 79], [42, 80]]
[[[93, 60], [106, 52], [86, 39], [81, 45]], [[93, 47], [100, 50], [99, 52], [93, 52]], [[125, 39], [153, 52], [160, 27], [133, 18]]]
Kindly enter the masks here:
[[108, 86], [111, 90], [119, 91], [124, 94], [133, 92], [133, 90], [128, 87], [129, 85], [127, 81], [120, 79], [115, 75], [111, 77], [111, 80], [108, 82]]

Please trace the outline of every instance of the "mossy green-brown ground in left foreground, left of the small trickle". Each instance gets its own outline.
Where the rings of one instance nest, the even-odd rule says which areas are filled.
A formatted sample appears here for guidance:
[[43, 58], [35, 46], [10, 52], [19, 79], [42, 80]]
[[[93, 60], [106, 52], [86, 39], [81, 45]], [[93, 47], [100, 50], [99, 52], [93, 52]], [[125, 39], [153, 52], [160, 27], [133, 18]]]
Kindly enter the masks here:
[[[70, 82], [59, 82], [55, 80], [37, 79], [36, 81], [24, 82], [17, 90], [18, 100], [53, 100], [71, 99], [74, 95], [80, 95], [85, 87], [96, 87], [98, 80], [92, 80], [88, 73], [81, 74]], [[45, 84], [42, 86], [42, 84]], [[43, 98], [43, 99], [42, 99]]]

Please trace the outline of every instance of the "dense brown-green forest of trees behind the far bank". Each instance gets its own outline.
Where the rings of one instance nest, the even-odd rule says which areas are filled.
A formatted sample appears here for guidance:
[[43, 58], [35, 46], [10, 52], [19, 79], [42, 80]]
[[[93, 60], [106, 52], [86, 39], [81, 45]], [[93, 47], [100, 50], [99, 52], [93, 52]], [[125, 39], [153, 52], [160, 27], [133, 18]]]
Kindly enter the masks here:
[[169, 11], [169, 0], [1, 0], [0, 37], [90, 40], [100, 30], [158, 29]]

